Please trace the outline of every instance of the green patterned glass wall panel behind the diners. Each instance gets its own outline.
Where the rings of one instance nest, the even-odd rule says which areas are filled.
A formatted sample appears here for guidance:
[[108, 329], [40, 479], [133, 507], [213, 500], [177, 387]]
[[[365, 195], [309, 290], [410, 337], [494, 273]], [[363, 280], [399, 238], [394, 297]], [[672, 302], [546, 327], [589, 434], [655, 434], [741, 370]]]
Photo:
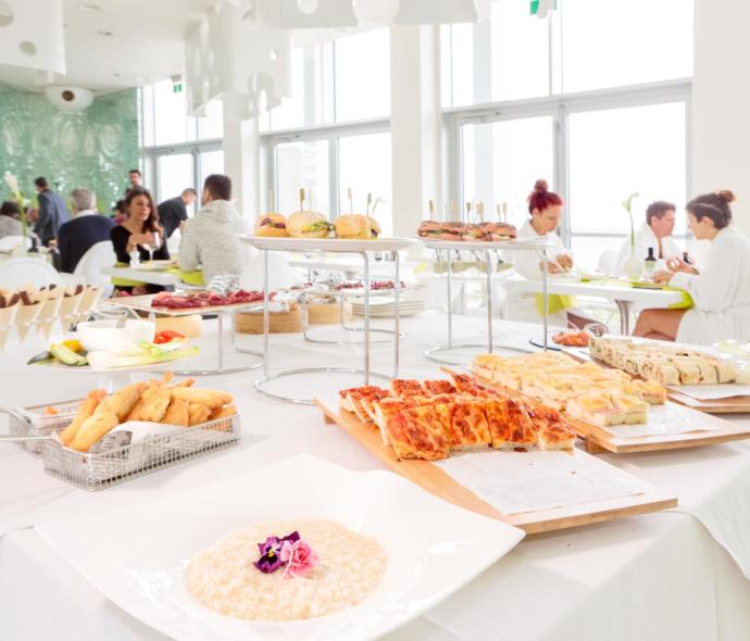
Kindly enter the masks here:
[[[66, 200], [76, 187], [92, 189], [99, 210], [109, 213], [137, 166], [135, 89], [97, 97], [86, 111], [67, 113], [39, 93], [0, 88], [0, 174], [15, 174], [26, 198], [35, 193], [34, 178], [45, 176]], [[0, 183], [0, 197], [9, 196]]]

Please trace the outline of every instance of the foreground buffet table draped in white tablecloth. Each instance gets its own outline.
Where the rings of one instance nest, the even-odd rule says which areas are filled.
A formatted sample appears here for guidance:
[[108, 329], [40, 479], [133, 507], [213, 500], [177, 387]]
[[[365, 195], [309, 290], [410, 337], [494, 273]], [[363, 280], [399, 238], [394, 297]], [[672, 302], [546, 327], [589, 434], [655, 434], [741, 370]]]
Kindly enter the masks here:
[[[442, 339], [443, 324], [445, 316], [437, 312], [402, 319], [407, 330], [403, 376], [438, 376], [437, 366], [424, 357], [424, 351]], [[479, 318], [457, 317], [459, 338], [483, 329]], [[528, 347], [532, 326], [508, 323], [503, 329], [515, 337], [518, 347]], [[212, 330], [207, 323], [201, 339], [204, 345], [213, 345]], [[241, 338], [248, 347], [261, 341], [260, 337]], [[271, 338], [276, 353], [293, 354], [295, 360], [311, 365], [332, 359], [346, 365], [360, 359], [354, 345], [334, 352], [305, 342], [301, 335]], [[38, 347], [16, 344], [3, 353], [0, 374], [8, 381], [3, 404], [80, 397], [93, 385], [96, 377], [86, 374], [62, 377], [20, 365]], [[388, 363], [390, 352], [387, 343], [374, 345], [376, 365]], [[382, 468], [342, 429], [324, 424], [317, 409], [264, 398], [253, 390], [252, 378], [252, 374], [237, 374], [199, 381], [235, 394], [243, 429], [238, 448], [101, 492], [86, 493], [45, 476], [40, 461], [16, 445], [0, 450], [3, 639], [166, 640], [109, 602], [63, 562], [35, 531], [35, 523], [100, 513], [204, 483], [230, 481], [238, 474], [302, 452], [350, 469]], [[314, 378], [310, 382], [332, 384]], [[335, 391], [328, 388], [320, 393]], [[0, 418], [0, 430], [4, 430], [2, 423]], [[742, 545], [750, 545], [750, 444], [740, 441], [692, 451], [601, 457], [676, 493], [680, 506], [529, 537], [466, 587], [385, 639], [747, 641], [750, 549]], [[143, 524], [145, 537], [149, 527]]]

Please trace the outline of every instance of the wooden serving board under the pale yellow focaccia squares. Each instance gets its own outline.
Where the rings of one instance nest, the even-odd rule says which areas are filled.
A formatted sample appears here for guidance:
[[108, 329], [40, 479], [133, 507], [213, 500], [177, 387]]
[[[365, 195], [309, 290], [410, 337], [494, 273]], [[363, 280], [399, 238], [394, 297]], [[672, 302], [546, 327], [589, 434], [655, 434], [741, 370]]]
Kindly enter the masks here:
[[[476, 375], [475, 375], [476, 376]], [[480, 376], [479, 380], [487, 385], [491, 385], [496, 389], [505, 391], [511, 395], [518, 395], [521, 392], [504, 388], [497, 382], [489, 381]], [[523, 394], [521, 394], [523, 395]], [[563, 412], [565, 418], [570, 422], [576, 435], [584, 439], [586, 443], [586, 451], [590, 454], [598, 454], [600, 452], [613, 452], [614, 454], [633, 454], [637, 452], [659, 452], [662, 450], [682, 450], [685, 448], [699, 448], [702, 445], [714, 445], [716, 443], [725, 443], [727, 441], [738, 441], [750, 438], [750, 426], [740, 426], [711, 416], [697, 410], [691, 410], [678, 403], [667, 401], [664, 405], [665, 411], [659, 410], [661, 405], [649, 407], [649, 423], [654, 424], [657, 420], [679, 422], [682, 425], [690, 427], [690, 431], [679, 433], [660, 433], [660, 435], [643, 435], [643, 436], [616, 436], [609, 431], [605, 427], [599, 427], [579, 418], [573, 418]], [[655, 417], [654, 413], [663, 414], [663, 417]], [[627, 429], [623, 426], [614, 426], [618, 429]], [[634, 425], [634, 428], [642, 427]]]

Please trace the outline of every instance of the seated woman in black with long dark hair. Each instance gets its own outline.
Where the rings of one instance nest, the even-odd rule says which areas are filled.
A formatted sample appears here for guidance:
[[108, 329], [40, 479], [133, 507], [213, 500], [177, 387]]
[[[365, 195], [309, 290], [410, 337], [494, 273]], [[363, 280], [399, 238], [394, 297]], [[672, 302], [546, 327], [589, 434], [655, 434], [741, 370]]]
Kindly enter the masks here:
[[[110, 239], [121, 265], [130, 264], [130, 253], [138, 250], [142, 262], [150, 260], [149, 248], [154, 260], [168, 260], [170, 252], [164, 242], [164, 230], [159, 224], [159, 212], [151, 198], [151, 193], [143, 187], [134, 187], [125, 198], [125, 212], [127, 218], [112, 228]], [[159, 285], [146, 282], [118, 285], [115, 288], [121, 292], [134, 294], [155, 293], [164, 288]]]

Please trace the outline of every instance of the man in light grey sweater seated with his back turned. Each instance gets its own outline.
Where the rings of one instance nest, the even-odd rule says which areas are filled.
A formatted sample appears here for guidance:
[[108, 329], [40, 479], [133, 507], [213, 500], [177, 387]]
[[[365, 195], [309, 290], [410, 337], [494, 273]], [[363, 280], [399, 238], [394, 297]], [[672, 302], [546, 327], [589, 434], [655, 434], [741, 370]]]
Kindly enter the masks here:
[[177, 264], [183, 272], [203, 271], [203, 281], [214, 276], [236, 276], [257, 255], [257, 250], [237, 238], [250, 225], [242, 218], [232, 199], [232, 180], [212, 174], [203, 184], [203, 206], [185, 223]]

